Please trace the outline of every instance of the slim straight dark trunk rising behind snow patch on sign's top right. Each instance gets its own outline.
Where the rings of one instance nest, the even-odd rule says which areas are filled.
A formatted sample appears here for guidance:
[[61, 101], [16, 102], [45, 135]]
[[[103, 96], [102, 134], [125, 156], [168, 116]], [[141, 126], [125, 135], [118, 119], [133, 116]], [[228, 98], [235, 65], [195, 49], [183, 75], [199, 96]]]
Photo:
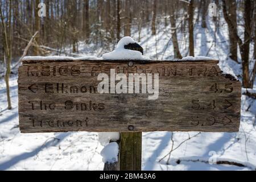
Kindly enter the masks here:
[[194, 55], [194, 25], [193, 25], [193, 12], [194, 12], [194, 0], [190, 0], [189, 6], [188, 6], [188, 28], [189, 28], [189, 55]]

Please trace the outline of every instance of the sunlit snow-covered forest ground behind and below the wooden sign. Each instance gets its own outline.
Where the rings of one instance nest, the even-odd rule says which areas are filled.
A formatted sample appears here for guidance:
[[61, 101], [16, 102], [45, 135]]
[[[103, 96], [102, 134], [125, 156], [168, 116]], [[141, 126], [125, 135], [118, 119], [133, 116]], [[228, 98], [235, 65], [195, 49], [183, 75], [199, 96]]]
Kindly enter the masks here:
[[[195, 27], [195, 55], [220, 60], [225, 73], [241, 78], [241, 64], [228, 59], [227, 27], [220, 23], [214, 44], [214, 25]], [[141, 46], [150, 59], [172, 59], [170, 27], [159, 27], [156, 36], [143, 28]], [[178, 34], [180, 52], [188, 55], [187, 34]], [[134, 40], [138, 32], [133, 31]], [[80, 53], [100, 57], [110, 50], [92, 51], [82, 42]], [[99, 56], [100, 54], [100, 56]], [[238, 54], [239, 55], [239, 54]], [[18, 127], [17, 76], [11, 76], [13, 110], [6, 110], [6, 88], [0, 80], [0, 170], [102, 170], [102, 146], [97, 133], [69, 132], [20, 134]], [[256, 168], [256, 104], [242, 96], [241, 126], [238, 133], [152, 132], [143, 133], [143, 170], [255, 170]], [[213, 163], [213, 164], [209, 164]], [[217, 162], [217, 164], [214, 164]], [[223, 163], [223, 164], [220, 164]]]

